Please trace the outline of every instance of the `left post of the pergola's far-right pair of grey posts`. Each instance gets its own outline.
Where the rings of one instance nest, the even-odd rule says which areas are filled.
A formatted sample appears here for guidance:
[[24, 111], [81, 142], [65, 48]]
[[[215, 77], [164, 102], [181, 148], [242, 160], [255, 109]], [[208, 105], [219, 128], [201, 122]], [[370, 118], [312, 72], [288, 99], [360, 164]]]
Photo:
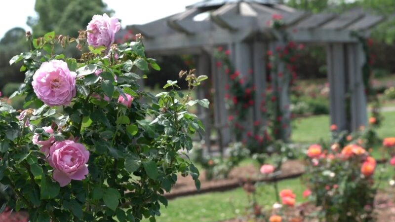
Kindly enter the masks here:
[[346, 118], [345, 94], [345, 57], [341, 43], [328, 44], [326, 48], [327, 70], [330, 87], [330, 116], [331, 124], [336, 124], [338, 130], [349, 130]]

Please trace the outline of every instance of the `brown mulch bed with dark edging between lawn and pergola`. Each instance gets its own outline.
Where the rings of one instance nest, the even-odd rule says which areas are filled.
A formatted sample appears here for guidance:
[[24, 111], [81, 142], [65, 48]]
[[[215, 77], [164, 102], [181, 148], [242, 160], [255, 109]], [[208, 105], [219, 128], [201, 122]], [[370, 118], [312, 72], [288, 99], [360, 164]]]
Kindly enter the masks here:
[[[302, 162], [289, 160], [282, 164], [281, 174], [277, 176], [277, 180], [299, 177], [303, 173], [304, 165]], [[263, 177], [257, 167], [247, 165], [234, 168], [227, 179], [207, 181], [203, 171], [200, 172], [199, 180], [201, 185], [200, 190], [197, 190], [192, 177], [178, 177], [177, 183], [172, 187], [170, 193], [166, 193], [165, 196], [168, 199], [172, 199], [212, 191], [226, 191], [242, 186], [246, 181], [261, 182], [269, 181], [270, 179]]]

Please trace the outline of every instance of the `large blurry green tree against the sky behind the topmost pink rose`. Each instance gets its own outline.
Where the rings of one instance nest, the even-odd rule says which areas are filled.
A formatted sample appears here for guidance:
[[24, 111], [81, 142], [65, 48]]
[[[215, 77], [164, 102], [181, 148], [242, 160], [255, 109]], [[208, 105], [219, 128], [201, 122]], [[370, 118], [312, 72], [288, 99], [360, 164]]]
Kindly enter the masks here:
[[113, 13], [102, 0], [36, 0], [35, 10], [39, 17], [28, 17], [27, 22], [34, 37], [49, 31], [77, 37], [93, 15]]

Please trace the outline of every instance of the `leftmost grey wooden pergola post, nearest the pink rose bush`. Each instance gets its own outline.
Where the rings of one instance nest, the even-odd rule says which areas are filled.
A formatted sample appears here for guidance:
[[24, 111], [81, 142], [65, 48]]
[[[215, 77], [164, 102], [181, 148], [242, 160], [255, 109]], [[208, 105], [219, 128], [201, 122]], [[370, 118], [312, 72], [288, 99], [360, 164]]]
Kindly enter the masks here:
[[[197, 87], [197, 98], [199, 100], [206, 98], [206, 95], [209, 94], [210, 90], [210, 82], [213, 81], [211, 75], [211, 67], [210, 67], [210, 55], [206, 52], [202, 52], [200, 55], [197, 56], [197, 75], [207, 75], [208, 79], [202, 82], [202, 85]], [[210, 101], [212, 102], [212, 101]], [[204, 134], [204, 144], [209, 153], [211, 153], [211, 115], [210, 110], [202, 108], [198, 106], [198, 114], [200, 119], [202, 119], [203, 125], [205, 127], [205, 134]]]

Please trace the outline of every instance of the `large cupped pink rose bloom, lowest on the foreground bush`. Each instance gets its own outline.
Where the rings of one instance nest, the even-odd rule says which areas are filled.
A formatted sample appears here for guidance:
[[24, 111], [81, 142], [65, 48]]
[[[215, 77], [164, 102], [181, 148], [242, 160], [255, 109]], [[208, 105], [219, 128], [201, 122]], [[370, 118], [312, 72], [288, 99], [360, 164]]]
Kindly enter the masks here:
[[57, 141], [49, 148], [48, 163], [53, 170], [53, 179], [60, 186], [68, 185], [71, 180], [81, 181], [89, 173], [85, 165], [89, 151], [82, 144], [71, 140]]

